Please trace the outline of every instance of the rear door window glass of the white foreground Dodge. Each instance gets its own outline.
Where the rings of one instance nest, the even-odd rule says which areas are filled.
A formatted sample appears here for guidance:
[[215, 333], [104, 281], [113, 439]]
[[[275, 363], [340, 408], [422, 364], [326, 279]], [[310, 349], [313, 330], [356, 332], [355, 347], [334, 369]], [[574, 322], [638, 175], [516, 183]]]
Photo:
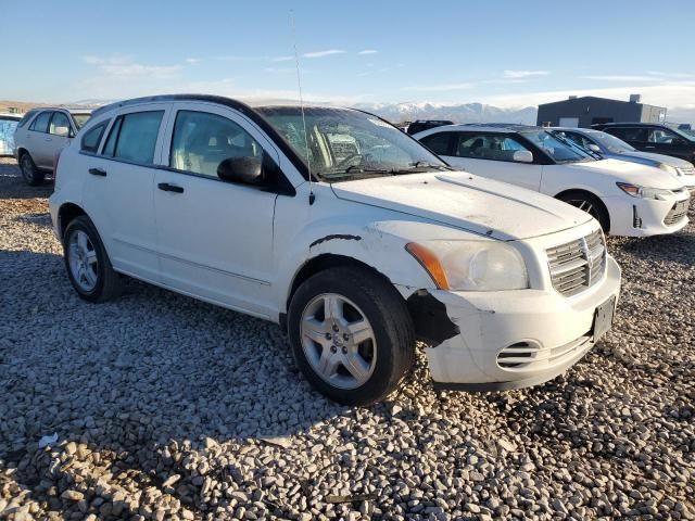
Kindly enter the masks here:
[[151, 165], [164, 111], [118, 116], [104, 147], [104, 155]]

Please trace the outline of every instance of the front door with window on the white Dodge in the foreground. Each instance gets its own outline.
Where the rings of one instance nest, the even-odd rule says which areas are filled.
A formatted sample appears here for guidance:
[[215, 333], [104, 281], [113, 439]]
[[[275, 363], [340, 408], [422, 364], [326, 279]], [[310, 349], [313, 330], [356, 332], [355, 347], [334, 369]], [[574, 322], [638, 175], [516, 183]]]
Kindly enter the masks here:
[[156, 173], [154, 190], [163, 283], [269, 317], [277, 307], [270, 281], [278, 193], [223, 181], [217, 167], [251, 157], [281, 176], [277, 150], [238, 112], [205, 102], [176, 104], [166, 143], [167, 167]]

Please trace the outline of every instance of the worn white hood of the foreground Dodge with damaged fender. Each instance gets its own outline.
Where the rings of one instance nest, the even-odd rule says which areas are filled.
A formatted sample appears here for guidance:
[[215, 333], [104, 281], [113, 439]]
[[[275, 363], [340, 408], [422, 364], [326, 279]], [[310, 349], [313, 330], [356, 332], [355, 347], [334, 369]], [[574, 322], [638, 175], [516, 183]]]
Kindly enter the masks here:
[[511, 241], [573, 228], [589, 214], [547, 195], [465, 171], [410, 174], [331, 185], [339, 199]]

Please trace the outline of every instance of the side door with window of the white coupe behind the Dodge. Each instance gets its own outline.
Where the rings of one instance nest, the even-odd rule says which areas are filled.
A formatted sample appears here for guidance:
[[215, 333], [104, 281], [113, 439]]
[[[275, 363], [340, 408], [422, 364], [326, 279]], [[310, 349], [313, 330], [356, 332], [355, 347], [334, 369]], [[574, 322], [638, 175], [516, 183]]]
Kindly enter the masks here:
[[471, 174], [539, 191], [543, 165], [515, 161], [515, 152], [533, 152], [503, 132], [456, 132], [452, 155], [444, 160]]

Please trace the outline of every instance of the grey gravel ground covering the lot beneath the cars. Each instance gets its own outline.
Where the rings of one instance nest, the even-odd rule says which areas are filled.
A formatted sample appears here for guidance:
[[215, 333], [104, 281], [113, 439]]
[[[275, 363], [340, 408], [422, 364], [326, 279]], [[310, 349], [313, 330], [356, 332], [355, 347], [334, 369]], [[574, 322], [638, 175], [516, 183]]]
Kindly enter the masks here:
[[137, 281], [80, 301], [49, 192], [0, 160], [0, 518], [695, 519], [694, 225], [610, 241], [615, 330], [565, 377], [435, 393], [420, 353], [357, 409], [277, 326]]

